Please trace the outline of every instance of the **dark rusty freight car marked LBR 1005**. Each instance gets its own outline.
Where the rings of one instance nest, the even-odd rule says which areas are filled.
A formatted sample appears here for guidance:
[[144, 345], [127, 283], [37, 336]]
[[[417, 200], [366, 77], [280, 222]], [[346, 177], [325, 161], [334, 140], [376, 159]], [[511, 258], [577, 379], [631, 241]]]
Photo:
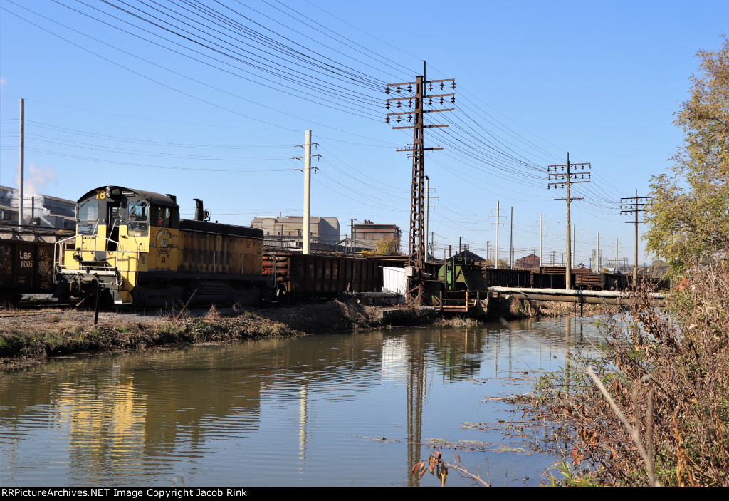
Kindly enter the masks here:
[[0, 228], [0, 303], [53, 292], [52, 231]]

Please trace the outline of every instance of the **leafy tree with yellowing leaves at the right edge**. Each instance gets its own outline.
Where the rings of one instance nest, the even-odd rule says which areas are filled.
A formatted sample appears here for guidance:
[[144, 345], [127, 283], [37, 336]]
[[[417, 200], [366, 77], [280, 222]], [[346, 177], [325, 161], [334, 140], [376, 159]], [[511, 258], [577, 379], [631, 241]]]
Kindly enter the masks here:
[[651, 179], [647, 249], [666, 258], [669, 273], [692, 260], [729, 252], [729, 39], [719, 50], [697, 53], [699, 74], [676, 114], [684, 144], [671, 174]]

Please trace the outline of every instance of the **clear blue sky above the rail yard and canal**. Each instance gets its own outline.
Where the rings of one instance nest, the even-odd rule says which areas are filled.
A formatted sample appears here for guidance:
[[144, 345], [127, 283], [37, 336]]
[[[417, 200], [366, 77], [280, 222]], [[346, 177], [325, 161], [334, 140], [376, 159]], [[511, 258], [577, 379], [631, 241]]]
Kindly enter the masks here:
[[425, 136], [445, 147], [425, 160], [436, 255], [459, 237], [485, 255], [499, 201], [502, 257], [513, 207], [515, 258], [538, 250], [543, 214], [544, 259], [560, 260], [565, 203], [553, 198], [564, 191], [547, 190], [546, 168], [569, 151], [592, 164], [593, 182], [573, 195], [585, 198], [572, 211], [585, 264], [598, 233], [604, 257], [617, 238], [632, 263], [620, 197], [647, 195], [670, 165], [695, 53], [729, 33], [725, 0], [424, 1], [420, 12], [391, 1], [125, 2], [0, 0], [0, 185], [17, 186], [25, 98], [39, 193], [75, 200], [122, 185], [174, 193], [184, 217], [203, 198], [214, 220], [248, 225], [303, 214], [292, 158], [311, 129], [312, 214], [338, 217], [342, 234], [354, 218], [407, 235], [411, 162], [395, 149], [412, 136], [385, 123], [384, 84], [413, 80], [426, 60], [429, 79], [456, 79], [456, 111], [426, 122], [450, 125]]

